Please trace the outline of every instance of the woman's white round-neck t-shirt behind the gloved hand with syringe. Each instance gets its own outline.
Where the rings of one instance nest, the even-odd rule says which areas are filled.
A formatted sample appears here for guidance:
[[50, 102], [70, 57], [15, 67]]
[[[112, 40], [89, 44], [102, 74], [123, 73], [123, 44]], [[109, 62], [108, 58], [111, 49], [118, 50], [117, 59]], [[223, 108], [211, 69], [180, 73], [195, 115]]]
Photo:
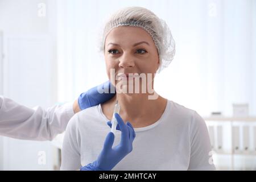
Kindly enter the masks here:
[[[97, 159], [109, 121], [101, 105], [75, 114], [65, 132], [61, 170], [76, 170]], [[135, 128], [133, 151], [112, 170], [213, 170], [210, 139], [204, 120], [196, 111], [168, 100], [154, 124]], [[113, 147], [121, 131], [115, 133]]]

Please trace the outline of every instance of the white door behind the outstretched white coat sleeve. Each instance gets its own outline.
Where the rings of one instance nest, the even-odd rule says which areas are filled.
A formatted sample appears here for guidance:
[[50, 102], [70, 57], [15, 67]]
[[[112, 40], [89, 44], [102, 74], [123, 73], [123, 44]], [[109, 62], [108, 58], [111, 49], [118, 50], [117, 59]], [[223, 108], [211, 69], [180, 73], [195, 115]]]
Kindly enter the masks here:
[[[50, 106], [55, 74], [49, 38], [40, 34], [6, 35], [4, 42], [3, 95], [28, 107]], [[2, 146], [3, 170], [53, 169], [50, 142], [4, 137]]]

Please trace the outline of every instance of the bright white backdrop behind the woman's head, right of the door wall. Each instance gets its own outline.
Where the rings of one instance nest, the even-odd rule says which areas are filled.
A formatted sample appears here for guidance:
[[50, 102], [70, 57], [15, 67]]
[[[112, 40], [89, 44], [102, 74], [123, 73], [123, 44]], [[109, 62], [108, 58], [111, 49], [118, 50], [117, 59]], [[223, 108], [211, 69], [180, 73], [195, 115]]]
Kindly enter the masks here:
[[166, 20], [176, 41], [174, 60], [155, 79], [159, 94], [205, 117], [212, 111], [230, 116], [233, 103], [248, 103], [250, 115], [256, 115], [255, 1], [58, 3], [64, 7], [58, 11], [59, 101], [108, 80], [104, 57], [97, 52], [97, 32], [115, 10], [143, 6]]

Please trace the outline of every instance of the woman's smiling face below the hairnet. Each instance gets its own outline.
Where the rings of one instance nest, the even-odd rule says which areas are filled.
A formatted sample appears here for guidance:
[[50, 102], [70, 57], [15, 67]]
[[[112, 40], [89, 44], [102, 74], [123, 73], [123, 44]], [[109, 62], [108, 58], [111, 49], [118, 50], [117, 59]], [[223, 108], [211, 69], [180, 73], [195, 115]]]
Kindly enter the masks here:
[[[154, 79], [154, 73], [159, 67], [158, 51], [154, 40], [150, 34], [139, 27], [113, 28], [106, 36], [104, 56], [109, 79], [111, 69], [115, 71], [115, 78], [121, 75], [127, 82], [134, 78], [125, 77], [121, 73], [126, 76], [128, 73], [138, 73]], [[115, 80], [114, 84], [111, 79], [111, 82], [116, 85], [119, 81]]]

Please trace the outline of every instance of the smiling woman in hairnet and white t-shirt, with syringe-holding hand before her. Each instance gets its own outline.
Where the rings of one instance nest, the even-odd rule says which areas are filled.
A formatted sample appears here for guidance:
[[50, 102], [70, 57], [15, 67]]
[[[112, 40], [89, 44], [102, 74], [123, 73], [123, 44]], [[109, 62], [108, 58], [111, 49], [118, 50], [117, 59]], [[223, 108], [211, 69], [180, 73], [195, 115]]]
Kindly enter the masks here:
[[[175, 53], [167, 24], [147, 9], [127, 7], [110, 17], [102, 40], [106, 71], [117, 94], [69, 121], [61, 169], [79, 169], [88, 164], [87, 169], [94, 166], [103, 170], [214, 169], [204, 120], [196, 111], [154, 91], [155, 73], [167, 67]], [[139, 93], [134, 91], [137, 87]], [[116, 100], [121, 110], [115, 115], [118, 130], [114, 137], [108, 122]]]

